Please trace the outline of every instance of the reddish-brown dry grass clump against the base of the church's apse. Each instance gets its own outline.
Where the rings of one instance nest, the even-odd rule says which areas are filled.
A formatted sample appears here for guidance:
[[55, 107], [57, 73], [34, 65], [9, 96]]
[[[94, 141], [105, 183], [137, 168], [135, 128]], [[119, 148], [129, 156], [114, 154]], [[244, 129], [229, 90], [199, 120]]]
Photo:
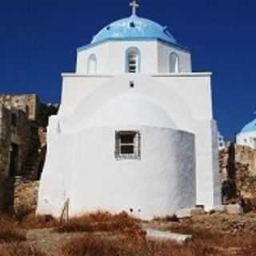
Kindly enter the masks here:
[[110, 214], [100, 212], [86, 214], [79, 218], [71, 218], [69, 222], [58, 227], [58, 232], [116, 232], [139, 230], [138, 223], [128, 214]]

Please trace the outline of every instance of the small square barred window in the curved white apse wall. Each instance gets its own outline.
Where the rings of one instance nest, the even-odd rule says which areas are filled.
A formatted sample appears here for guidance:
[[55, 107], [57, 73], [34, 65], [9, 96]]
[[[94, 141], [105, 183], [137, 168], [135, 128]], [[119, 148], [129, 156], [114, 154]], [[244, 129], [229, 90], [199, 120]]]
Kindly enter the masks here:
[[115, 158], [140, 159], [141, 135], [138, 131], [122, 130], [115, 132]]

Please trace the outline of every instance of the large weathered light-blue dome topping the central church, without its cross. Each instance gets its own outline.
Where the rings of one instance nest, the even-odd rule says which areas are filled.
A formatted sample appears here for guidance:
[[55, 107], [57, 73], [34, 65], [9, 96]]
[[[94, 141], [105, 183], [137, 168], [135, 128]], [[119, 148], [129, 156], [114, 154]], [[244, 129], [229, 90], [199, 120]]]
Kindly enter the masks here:
[[177, 43], [166, 26], [161, 26], [156, 22], [152, 22], [146, 18], [140, 18], [136, 15], [131, 15], [129, 18], [122, 18], [105, 26], [94, 36], [91, 43], [129, 39], [159, 39], [172, 44]]

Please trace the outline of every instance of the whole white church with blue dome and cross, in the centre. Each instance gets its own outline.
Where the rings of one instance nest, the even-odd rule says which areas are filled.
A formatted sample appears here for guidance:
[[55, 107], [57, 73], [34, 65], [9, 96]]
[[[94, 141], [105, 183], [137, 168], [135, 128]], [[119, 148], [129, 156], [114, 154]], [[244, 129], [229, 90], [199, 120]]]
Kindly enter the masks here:
[[166, 26], [132, 14], [77, 50], [50, 118], [38, 214], [138, 218], [221, 203], [211, 73]]

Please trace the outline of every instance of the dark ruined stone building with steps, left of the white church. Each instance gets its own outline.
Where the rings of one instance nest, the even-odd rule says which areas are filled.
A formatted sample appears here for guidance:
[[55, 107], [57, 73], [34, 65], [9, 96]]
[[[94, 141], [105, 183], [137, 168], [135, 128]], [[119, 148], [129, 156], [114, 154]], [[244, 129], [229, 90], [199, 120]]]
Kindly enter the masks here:
[[36, 94], [0, 94], [0, 210], [36, 206], [46, 126], [57, 111]]

